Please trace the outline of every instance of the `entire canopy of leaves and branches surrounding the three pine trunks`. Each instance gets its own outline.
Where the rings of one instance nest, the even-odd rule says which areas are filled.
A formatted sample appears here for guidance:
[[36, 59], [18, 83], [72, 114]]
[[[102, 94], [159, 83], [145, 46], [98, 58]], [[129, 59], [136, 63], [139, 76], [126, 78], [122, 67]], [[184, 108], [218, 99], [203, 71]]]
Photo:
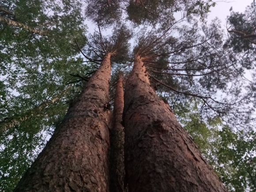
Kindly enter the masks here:
[[256, 191], [256, 5], [231, 8], [224, 29], [207, 21], [216, 4], [1, 1], [0, 190], [14, 190], [109, 54], [104, 110], [140, 56], [151, 87], [226, 188]]

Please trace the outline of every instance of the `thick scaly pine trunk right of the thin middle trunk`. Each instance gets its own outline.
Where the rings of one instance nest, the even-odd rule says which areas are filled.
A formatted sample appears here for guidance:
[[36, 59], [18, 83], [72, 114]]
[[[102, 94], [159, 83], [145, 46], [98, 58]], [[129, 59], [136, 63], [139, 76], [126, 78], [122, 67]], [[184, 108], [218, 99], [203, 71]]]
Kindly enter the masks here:
[[124, 93], [124, 158], [131, 192], [227, 192], [150, 86], [139, 56]]

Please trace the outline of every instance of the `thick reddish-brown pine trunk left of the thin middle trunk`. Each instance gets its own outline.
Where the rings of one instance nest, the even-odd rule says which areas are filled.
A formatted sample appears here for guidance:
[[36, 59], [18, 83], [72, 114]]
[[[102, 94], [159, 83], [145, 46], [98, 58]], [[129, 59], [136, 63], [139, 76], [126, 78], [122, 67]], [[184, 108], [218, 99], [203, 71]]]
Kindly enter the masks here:
[[110, 54], [15, 192], [108, 192]]

